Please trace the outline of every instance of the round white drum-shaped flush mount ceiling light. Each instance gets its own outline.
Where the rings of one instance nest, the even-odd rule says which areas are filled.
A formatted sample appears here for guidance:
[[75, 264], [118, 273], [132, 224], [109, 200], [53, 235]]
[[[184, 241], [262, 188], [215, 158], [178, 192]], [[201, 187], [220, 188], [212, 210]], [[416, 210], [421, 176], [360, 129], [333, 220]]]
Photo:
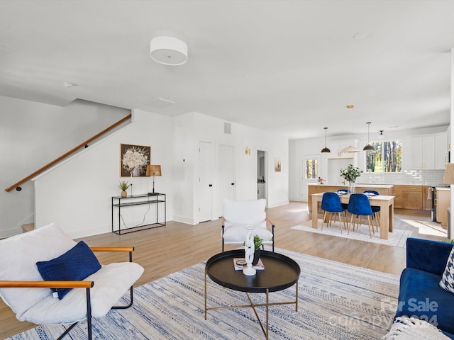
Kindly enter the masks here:
[[160, 64], [182, 65], [187, 62], [187, 45], [177, 38], [156, 37], [150, 41], [150, 57]]

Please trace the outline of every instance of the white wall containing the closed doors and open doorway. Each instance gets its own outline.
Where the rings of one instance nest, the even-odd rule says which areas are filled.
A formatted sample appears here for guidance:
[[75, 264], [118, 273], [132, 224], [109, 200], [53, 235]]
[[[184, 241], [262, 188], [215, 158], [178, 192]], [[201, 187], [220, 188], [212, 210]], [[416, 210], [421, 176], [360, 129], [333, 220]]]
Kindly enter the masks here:
[[[231, 124], [231, 134], [224, 133], [225, 120], [201, 113], [187, 113], [175, 118], [174, 152], [174, 219], [189, 224], [197, 223], [196, 188], [199, 174], [199, 142], [210, 142], [214, 147], [214, 168], [218, 164], [218, 146], [231, 145], [234, 149], [236, 174], [235, 198], [257, 198], [256, 156], [245, 154], [248, 145], [251, 155], [257, 150], [268, 153], [267, 174], [269, 177], [267, 206], [283, 205], [288, 200], [288, 139], [282, 135]], [[274, 171], [274, 159], [282, 160], [282, 172]], [[217, 198], [217, 176], [214, 176], [214, 199]], [[213, 218], [221, 215], [214, 203]]]

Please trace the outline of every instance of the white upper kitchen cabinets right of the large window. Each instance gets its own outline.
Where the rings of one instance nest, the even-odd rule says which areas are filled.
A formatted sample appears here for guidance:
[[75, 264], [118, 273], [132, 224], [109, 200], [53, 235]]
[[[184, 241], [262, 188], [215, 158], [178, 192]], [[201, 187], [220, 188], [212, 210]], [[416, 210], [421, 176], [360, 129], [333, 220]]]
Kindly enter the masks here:
[[445, 169], [448, 162], [448, 134], [411, 137], [409, 169]]

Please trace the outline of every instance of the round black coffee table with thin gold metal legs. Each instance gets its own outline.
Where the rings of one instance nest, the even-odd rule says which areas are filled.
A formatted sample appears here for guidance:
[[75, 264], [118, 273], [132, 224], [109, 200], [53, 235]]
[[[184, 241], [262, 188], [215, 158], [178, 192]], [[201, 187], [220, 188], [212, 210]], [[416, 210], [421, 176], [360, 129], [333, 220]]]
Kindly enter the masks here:
[[[252, 307], [260, 327], [262, 327], [265, 338], [268, 339], [268, 308], [270, 305], [295, 305], [298, 311], [298, 279], [301, 269], [299, 264], [288, 256], [273, 251], [262, 250], [260, 259], [265, 270], [258, 270], [255, 276], [245, 276], [243, 271], [236, 271], [233, 266], [233, 259], [244, 258], [244, 250], [237, 249], [224, 251], [223, 253], [211, 256], [205, 266], [205, 319], [208, 310], [221, 310], [226, 308]], [[225, 288], [245, 292], [250, 302], [249, 305], [228, 306], [228, 307], [207, 307], [206, 305], [206, 277], [211, 278], [215, 283]], [[296, 285], [295, 300], [288, 302], [269, 302], [269, 293], [284, 290]], [[253, 304], [248, 293], [265, 293], [266, 303]], [[255, 307], [266, 307], [266, 329], [258, 317]]]

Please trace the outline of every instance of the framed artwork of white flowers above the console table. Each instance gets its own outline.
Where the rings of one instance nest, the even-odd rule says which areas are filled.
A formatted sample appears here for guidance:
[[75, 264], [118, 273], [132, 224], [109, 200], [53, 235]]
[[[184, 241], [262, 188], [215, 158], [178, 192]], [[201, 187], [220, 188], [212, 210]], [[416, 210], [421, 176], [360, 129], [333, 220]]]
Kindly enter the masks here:
[[120, 145], [120, 176], [146, 176], [150, 164], [151, 147], [142, 145]]

